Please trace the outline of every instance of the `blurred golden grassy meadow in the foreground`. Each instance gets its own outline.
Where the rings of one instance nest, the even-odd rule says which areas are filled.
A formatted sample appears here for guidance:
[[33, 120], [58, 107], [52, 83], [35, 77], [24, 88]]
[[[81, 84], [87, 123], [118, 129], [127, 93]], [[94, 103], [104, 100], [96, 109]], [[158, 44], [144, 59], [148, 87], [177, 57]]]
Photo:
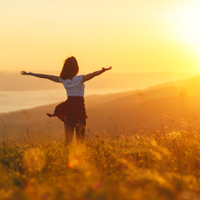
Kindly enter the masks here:
[[182, 119], [171, 130], [140, 130], [114, 137], [96, 133], [84, 144], [46, 139], [0, 144], [1, 200], [200, 199], [200, 126]]

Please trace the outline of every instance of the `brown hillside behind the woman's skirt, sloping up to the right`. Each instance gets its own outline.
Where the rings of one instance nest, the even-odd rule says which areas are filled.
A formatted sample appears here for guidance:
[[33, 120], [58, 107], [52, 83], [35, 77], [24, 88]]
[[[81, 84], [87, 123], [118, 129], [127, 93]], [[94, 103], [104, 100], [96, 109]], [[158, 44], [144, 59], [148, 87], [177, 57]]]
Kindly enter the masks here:
[[[134, 90], [109, 95], [93, 95], [85, 99], [88, 134], [115, 131], [136, 133], [138, 131], [179, 129], [181, 118], [198, 125], [200, 116], [200, 76], [187, 80], [165, 83], [143, 90]], [[29, 132], [36, 135], [63, 135], [63, 123], [57, 118], [48, 118], [56, 104], [0, 114], [0, 133], [20, 137]], [[168, 117], [164, 117], [167, 115]], [[173, 121], [172, 121], [173, 120]], [[9, 128], [9, 131], [3, 125]], [[164, 126], [165, 125], [165, 126]], [[168, 128], [167, 128], [168, 127]]]

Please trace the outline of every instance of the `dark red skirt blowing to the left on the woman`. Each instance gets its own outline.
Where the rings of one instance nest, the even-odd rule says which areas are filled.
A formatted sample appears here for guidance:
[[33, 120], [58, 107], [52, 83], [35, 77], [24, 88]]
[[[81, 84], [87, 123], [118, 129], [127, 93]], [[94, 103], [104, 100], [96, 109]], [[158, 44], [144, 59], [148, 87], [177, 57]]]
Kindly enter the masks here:
[[61, 121], [75, 126], [79, 121], [84, 121], [87, 118], [85, 111], [84, 97], [68, 97], [68, 99], [57, 105], [54, 113], [49, 114], [49, 117], [58, 117]]

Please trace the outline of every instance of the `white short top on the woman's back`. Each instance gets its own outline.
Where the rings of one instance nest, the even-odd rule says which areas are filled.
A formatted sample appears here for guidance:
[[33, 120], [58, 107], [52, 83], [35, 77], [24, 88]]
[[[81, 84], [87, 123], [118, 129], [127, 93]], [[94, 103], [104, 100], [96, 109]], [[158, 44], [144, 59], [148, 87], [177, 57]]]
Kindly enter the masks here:
[[67, 96], [79, 96], [84, 97], [84, 89], [85, 85], [83, 82], [83, 76], [74, 76], [72, 80], [66, 79], [63, 80], [61, 77], [59, 78], [60, 82], [64, 85]]

